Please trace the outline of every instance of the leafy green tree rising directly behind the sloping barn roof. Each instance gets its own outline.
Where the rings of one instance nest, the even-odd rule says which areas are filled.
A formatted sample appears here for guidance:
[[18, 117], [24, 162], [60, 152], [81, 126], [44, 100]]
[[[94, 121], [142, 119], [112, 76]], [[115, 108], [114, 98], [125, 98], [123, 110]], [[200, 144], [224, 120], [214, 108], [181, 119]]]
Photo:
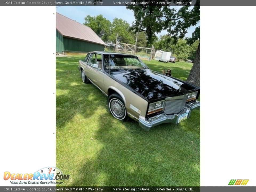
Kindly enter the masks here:
[[103, 15], [97, 15], [96, 17], [87, 15], [84, 25], [90, 27], [104, 42], [109, 41], [111, 22]]

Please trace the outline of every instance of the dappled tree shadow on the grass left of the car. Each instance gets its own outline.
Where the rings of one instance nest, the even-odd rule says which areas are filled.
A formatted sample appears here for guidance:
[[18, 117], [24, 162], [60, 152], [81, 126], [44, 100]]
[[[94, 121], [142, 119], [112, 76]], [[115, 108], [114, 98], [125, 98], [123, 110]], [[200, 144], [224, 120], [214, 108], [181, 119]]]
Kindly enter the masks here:
[[[76, 72], [79, 74], [78, 71]], [[94, 115], [95, 109], [103, 103], [103, 97], [96, 99], [95, 95], [101, 95], [102, 93], [95, 89], [95, 86], [81, 83], [79, 77], [76, 77], [75, 81], [70, 81], [63, 76], [63, 73], [66, 74], [67, 72], [56, 72], [56, 75], [62, 75], [62, 78], [59, 78], [60, 81], [56, 84], [58, 90], [56, 95], [57, 128], [65, 126], [66, 122], [73, 119], [77, 113], [85, 118], [90, 118], [91, 115]], [[71, 73], [70, 75], [74, 74]]]

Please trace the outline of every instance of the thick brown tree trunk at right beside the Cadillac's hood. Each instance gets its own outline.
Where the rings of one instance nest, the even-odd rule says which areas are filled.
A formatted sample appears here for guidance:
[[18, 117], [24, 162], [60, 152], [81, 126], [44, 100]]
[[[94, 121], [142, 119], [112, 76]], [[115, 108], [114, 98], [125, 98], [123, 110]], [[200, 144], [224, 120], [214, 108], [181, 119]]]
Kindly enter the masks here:
[[195, 56], [194, 65], [189, 73], [187, 82], [200, 87], [200, 42], [197, 48], [197, 55]]

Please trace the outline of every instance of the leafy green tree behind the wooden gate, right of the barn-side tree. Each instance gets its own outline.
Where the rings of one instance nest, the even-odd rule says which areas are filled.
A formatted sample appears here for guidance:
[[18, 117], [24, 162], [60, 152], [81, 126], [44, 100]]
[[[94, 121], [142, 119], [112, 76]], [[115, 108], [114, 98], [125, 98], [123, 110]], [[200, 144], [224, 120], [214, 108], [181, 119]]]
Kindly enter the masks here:
[[135, 39], [131, 33], [130, 25], [123, 19], [114, 18], [111, 24], [110, 40], [115, 42], [116, 35], [118, 34], [118, 42], [134, 44]]

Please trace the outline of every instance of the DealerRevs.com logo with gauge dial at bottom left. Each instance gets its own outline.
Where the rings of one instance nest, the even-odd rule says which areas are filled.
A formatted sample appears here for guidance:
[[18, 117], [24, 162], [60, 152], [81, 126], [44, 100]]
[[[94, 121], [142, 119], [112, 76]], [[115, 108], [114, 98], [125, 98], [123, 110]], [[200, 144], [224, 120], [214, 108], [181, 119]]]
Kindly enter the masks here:
[[65, 175], [56, 167], [45, 167], [34, 173], [3, 173], [4, 180], [11, 180], [11, 184], [62, 184], [63, 180], [69, 180], [69, 175]]

